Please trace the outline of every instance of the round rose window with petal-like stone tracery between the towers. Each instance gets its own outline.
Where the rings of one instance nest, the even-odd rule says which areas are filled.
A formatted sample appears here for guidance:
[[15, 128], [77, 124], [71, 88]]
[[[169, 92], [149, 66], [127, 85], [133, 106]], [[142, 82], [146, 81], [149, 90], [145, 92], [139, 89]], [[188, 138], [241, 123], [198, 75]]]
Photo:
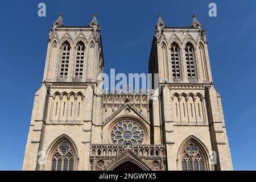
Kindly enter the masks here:
[[130, 120], [117, 122], [110, 135], [114, 144], [142, 144], [145, 136], [142, 126]]

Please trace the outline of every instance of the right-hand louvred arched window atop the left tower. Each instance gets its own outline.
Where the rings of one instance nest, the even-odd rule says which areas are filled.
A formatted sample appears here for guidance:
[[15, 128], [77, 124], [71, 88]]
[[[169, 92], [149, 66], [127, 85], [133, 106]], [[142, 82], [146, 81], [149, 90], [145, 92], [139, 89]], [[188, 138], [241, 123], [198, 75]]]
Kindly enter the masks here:
[[82, 68], [84, 66], [84, 43], [80, 42], [76, 47], [76, 71], [75, 77], [82, 77]]

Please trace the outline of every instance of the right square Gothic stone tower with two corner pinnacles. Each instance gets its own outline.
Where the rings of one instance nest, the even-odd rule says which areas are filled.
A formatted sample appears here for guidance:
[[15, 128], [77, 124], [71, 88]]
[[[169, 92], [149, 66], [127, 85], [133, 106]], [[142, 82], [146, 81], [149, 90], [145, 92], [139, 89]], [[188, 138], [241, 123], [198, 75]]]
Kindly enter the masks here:
[[159, 15], [148, 69], [159, 73], [159, 100], [151, 101], [151, 109], [155, 130], [166, 144], [167, 168], [232, 170], [207, 37], [195, 15], [191, 27], [167, 27]]

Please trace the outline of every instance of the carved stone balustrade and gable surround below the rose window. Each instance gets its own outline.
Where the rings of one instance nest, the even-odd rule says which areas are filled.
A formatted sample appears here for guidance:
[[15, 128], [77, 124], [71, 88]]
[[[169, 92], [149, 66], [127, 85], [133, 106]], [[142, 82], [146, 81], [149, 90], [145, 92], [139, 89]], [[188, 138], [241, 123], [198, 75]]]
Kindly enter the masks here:
[[90, 161], [93, 170], [105, 170], [119, 158], [129, 157], [129, 152], [137, 156], [148, 168], [152, 170], [164, 170], [166, 160], [166, 148], [163, 145], [112, 145], [92, 144], [90, 147]]

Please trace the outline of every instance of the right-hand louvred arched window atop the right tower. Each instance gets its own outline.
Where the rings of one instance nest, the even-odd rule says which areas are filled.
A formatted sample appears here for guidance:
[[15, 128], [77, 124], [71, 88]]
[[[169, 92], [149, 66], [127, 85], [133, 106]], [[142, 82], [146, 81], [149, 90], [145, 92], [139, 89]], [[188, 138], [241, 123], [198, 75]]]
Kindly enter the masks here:
[[186, 64], [187, 64], [187, 73], [188, 78], [196, 78], [196, 71], [195, 71], [195, 50], [192, 44], [188, 43], [185, 46], [185, 57], [186, 57]]

